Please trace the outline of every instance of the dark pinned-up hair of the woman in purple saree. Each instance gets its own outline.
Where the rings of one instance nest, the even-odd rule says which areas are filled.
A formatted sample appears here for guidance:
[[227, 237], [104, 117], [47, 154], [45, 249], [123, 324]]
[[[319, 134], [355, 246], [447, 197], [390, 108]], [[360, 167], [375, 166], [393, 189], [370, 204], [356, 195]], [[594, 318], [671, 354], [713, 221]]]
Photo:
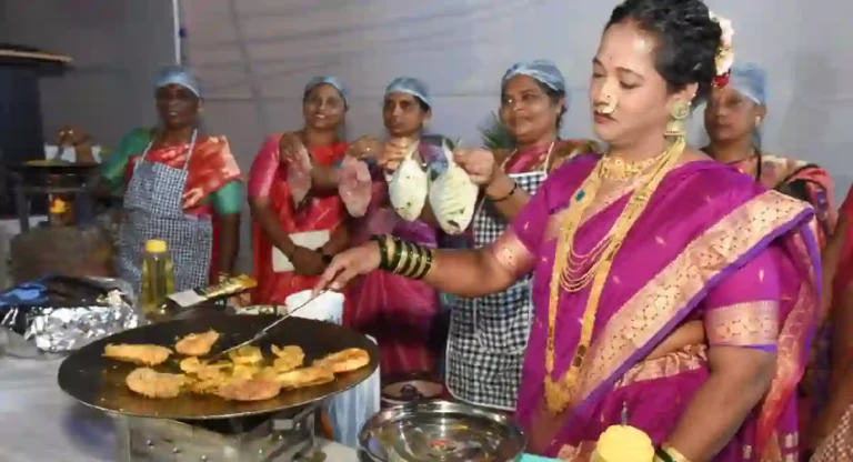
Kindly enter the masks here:
[[696, 101], [711, 92], [714, 57], [722, 29], [700, 0], [625, 0], [613, 9], [608, 27], [635, 22], [658, 39], [655, 69], [672, 91], [699, 83]]

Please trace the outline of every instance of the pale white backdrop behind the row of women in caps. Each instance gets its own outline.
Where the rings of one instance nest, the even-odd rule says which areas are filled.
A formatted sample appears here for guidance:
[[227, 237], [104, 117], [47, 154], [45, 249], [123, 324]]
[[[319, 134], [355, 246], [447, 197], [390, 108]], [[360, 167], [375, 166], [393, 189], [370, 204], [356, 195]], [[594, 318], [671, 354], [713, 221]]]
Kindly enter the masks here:
[[[586, 82], [616, 1], [181, 0], [187, 56], [207, 88], [208, 128], [228, 134], [243, 168], [262, 139], [301, 125], [304, 82], [349, 86], [350, 138], [381, 133], [384, 86], [423, 79], [432, 129], [479, 143], [503, 71], [522, 59], [558, 62], [572, 89], [563, 134], [590, 137]], [[766, 150], [829, 168], [841, 199], [853, 179], [853, 32], [846, 0], [709, 0], [732, 19], [737, 59], [770, 78]], [[701, 114], [698, 114], [701, 116]], [[701, 117], [693, 141], [704, 140]], [[245, 247], [243, 249], [247, 249]], [[244, 257], [245, 252], [243, 252]]]

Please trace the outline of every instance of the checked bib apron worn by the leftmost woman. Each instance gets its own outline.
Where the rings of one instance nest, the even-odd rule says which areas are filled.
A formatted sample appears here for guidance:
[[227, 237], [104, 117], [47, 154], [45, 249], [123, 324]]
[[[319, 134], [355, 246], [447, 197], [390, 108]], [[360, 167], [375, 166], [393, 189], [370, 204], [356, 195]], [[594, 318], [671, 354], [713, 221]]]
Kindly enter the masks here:
[[119, 237], [119, 277], [131, 283], [139, 294], [142, 253], [150, 239], [162, 239], [174, 262], [174, 290], [208, 284], [213, 227], [209, 217], [194, 217], [183, 211], [187, 165], [195, 148], [198, 132], [192, 133], [183, 169], [148, 162], [148, 144], [133, 169], [124, 193], [124, 218]]

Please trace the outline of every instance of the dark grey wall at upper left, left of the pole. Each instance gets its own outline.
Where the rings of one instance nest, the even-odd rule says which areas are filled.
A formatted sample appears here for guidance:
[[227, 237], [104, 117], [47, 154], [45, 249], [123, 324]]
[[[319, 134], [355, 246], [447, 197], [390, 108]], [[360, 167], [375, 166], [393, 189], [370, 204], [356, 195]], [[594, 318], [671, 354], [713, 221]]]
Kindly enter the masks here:
[[170, 0], [0, 0], [0, 42], [74, 59], [62, 77], [41, 80], [43, 134], [64, 123], [114, 145], [154, 121], [152, 80], [173, 62]]

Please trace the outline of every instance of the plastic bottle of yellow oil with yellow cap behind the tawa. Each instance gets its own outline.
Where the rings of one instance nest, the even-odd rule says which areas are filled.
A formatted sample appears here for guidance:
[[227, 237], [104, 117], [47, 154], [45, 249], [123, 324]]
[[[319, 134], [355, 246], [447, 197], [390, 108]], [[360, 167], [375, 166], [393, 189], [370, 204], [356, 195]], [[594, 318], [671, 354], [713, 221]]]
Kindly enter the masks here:
[[161, 312], [165, 297], [174, 292], [174, 265], [165, 241], [152, 239], [145, 242], [142, 255], [142, 284], [139, 301], [142, 314], [149, 321], [161, 321], [167, 313]]

